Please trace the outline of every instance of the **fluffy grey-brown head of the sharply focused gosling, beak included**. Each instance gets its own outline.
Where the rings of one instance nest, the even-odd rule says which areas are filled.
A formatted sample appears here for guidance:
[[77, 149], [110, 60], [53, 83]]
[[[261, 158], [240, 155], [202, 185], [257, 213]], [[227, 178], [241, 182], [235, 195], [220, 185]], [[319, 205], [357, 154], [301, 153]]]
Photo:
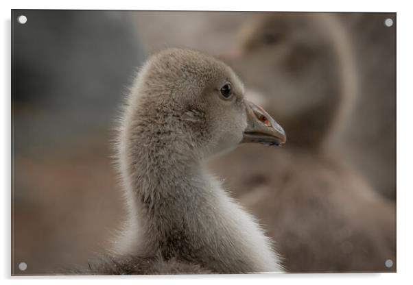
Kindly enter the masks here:
[[125, 123], [130, 147], [146, 147], [147, 159], [163, 151], [209, 158], [239, 143], [286, 140], [283, 128], [244, 98], [243, 84], [226, 64], [187, 49], [167, 49], [147, 61]]

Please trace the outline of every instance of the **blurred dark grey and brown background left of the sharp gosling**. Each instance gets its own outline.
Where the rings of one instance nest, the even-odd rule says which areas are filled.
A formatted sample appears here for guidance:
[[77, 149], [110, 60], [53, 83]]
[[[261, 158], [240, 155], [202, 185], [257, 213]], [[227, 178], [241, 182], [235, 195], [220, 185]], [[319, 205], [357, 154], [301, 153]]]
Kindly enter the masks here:
[[12, 274], [68, 273], [123, 221], [111, 144], [141, 48], [128, 13], [19, 10], [12, 21]]

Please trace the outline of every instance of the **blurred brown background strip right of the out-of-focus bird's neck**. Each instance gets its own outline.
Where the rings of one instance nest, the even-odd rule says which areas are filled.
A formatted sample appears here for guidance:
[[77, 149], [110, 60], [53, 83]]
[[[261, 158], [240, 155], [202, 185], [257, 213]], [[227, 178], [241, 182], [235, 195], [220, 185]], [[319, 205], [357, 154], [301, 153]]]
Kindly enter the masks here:
[[[392, 18], [392, 27], [383, 19]], [[396, 14], [343, 14], [359, 70], [359, 100], [340, 147], [379, 193], [396, 199]]]

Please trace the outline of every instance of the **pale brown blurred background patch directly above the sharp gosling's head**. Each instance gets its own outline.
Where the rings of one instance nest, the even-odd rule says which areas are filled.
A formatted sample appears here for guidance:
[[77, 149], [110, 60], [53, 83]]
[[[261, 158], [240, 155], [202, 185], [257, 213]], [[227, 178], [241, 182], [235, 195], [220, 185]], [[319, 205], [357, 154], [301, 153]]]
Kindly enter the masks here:
[[189, 47], [222, 55], [237, 37], [246, 12], [134, 12], [143, 49], [154, 53], [166, 47]]

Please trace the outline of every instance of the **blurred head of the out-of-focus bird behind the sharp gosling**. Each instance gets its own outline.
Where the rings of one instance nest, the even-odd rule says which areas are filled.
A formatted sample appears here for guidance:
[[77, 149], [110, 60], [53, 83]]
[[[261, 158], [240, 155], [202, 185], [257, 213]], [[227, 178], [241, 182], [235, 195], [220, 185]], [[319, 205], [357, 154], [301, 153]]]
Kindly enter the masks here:
[[259, 13], [239, 29], [231, 65], [265, 95], [263, 106], [285, 126], [289, 145], [317, 144], [335, 118], [341, 99], [337, 22], [322, 13]]

